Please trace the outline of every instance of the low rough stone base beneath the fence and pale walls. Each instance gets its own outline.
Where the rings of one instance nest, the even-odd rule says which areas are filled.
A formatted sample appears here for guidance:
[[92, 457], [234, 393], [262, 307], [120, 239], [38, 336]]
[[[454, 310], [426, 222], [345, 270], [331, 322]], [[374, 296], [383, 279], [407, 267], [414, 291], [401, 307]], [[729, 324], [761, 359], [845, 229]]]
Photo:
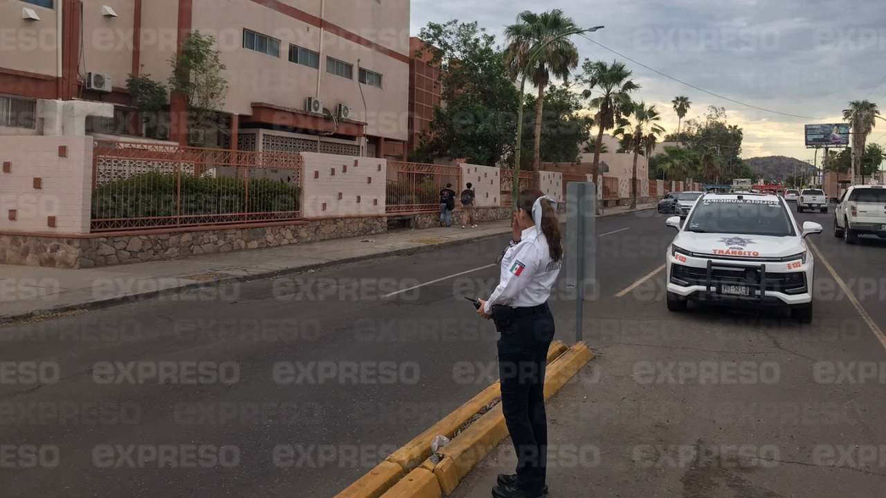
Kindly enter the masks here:
[[146, 235], [63, 238], [0, 235], [0, 263], [49, 268], [95, 268], [242, 249], [303, 244], [387, 231], [385, 216], [313, 220], [256, 228]]

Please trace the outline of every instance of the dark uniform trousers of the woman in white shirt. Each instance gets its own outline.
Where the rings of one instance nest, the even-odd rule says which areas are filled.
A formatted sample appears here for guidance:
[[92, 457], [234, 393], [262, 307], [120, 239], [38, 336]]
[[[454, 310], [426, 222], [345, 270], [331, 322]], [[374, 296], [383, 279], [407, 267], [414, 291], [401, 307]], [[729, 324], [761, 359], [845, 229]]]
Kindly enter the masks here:
[[554, 316], [547, 303], [517, 307], [499, 331], [501, 409], [517, 453], [517, 487], [540, 493], [548, 460], [544, 383]]

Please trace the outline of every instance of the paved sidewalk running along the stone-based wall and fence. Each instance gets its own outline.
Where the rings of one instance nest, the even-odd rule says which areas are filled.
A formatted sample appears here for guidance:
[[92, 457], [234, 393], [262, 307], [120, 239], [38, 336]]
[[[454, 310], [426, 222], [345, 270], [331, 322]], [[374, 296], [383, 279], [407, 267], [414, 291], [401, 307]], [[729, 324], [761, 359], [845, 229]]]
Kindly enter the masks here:
[[[640, 205], [637, 211], [654, 207], [651, 204]], [[609, 207], [603, 216], [629, 213], [631, 211], [626, 206]], [[509, 231], [510, 222], [500, 220], [485, 222], [477, 229], [462, 230], [454, 226], [395, 230], [365, 237], [103, 268], [0, 265], [0, 323], [29, 315], [110, 306], [161, 293], [307, 271], [398, 253], [426, 251], [441, 245], [496, 237]]]

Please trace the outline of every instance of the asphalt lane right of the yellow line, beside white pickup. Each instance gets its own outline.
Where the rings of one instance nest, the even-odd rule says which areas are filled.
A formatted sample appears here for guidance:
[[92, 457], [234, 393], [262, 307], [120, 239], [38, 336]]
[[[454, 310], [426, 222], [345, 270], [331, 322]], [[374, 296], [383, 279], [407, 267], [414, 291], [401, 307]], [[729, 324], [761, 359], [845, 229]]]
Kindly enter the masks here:
[[[848, 245], [843, 238], [834, 237], [834, 205], [828, 213], [795, 214], [797, 221], [817, 222], [824, 228], [821, 235], [809, 237], [828, 263], [836, 270], [843, 282], [859, 300], [865, 311], [882, 331], [886, 330], [886, 239], [860, 236], [856, 245]], [[824, 266], [816, 267], [816, 273], [827, 272]], [[822, 299], [846, 300], [842, 292], [828, 284], [816, 289]]]

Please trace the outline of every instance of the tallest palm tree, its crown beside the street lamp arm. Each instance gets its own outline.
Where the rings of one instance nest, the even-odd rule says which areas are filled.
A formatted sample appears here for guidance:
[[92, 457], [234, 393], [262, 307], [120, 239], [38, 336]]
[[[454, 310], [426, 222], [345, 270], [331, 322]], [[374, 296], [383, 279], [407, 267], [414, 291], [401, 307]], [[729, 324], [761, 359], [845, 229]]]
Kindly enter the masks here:
[[567, 36], [557, 36], [577, 30], [579, 27], [575, 22], [560, 9], [540, 14], [520, 12], [517, 23], [505, 27], [504, 30], [508, 41], [505, 57], [511, 74], [525, 74], [539, 89], [539, 97], [535, 103], [535, 143], [532, 156], [532, 173], [536, 182], [539, 181], [541, 168], [541, 113], [545, 87], [551, 76], [567, 80], [571, 70], [579, 66], [579, 49]]

